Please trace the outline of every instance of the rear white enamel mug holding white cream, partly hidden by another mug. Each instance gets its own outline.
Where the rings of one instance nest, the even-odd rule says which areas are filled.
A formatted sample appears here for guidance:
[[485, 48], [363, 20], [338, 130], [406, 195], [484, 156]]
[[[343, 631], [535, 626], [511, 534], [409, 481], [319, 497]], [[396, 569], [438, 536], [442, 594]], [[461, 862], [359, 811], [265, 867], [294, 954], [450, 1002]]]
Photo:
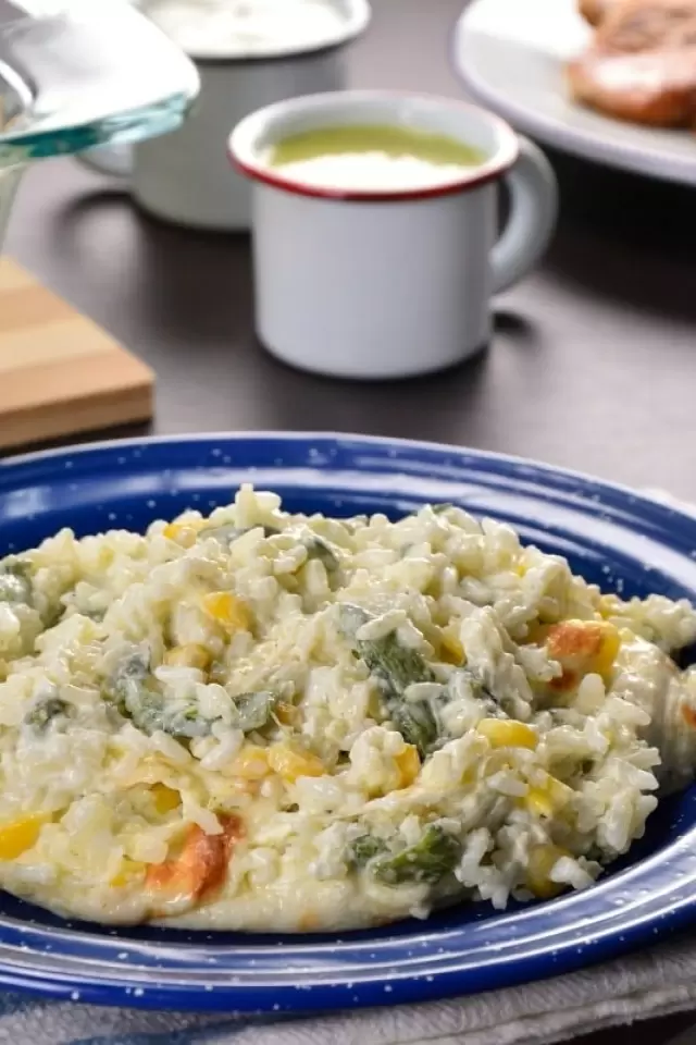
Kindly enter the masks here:
[[[318, 2], [309, 0], [310, 5]], [[307, 38], [299, 19], [302, 0], [287, 0], [287, 25], [277, 21], [278, 3], [257, 3], [260, 28], [273, 29], [265, 40], [263, 36], [235, 38], [232, 15], [229, 36], [220, 35], [216, 26], [224, 27], [225, 9], [214, 0], [198, 0], [198, 5], [192, 0], [135, 3], [194, 60], [200, 97], [178, 131], [138, 145], [132, 157], [112, 150], [101, 156], [90, 152], [84, 159], [110, 174], [128, 176], [134, 199], [157, 218], [196, 229], [248, 230], [250, 187], [245, 179], [231, 176], [225, 153], [231, 125], [275, 101], [345, 88], [346, 47], [370, 22], [368, 0], [321, 0], [331, 17], [321, 33]], [[250, 4], [238, 7], [253, 10]], [[211, 20], [208, 32], [207, 19]]]

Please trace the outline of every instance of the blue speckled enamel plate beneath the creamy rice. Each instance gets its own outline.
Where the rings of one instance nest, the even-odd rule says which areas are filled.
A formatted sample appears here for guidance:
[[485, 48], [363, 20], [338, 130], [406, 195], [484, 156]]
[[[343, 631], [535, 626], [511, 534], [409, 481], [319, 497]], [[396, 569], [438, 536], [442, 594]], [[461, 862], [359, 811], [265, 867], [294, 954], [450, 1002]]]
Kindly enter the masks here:
[[[60, 527], [127, 527], [227, 503], [243, 481], [290, 511], [391, 517], [456, 502], [624, 597], [696, 600], [696, 516], [510, 457], [332, 435], [204, 435], [102, 443], [0, 463], [0, 554]], [[0, 894], [0, 985], [151, 1008], [283, 1013], [461, 995], [552, 976], [696, 919], [696, 787], [584, 893], [505, 912], [467, 905], [425, 922], [335, 936], [249, 936], [64, 922]]]

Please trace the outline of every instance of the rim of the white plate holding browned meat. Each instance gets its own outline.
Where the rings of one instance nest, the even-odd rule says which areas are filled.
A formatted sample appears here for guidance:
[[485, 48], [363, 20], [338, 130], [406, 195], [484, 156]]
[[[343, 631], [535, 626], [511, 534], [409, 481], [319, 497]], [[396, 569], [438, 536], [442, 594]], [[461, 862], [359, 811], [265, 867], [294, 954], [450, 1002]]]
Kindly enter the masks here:
[[[477, 70], [468, 67], [462, 60], [465, 40], [477, 35], [469, 27], [469, 19], [474, 8], [483, 7], [494, 0], [470, 0], [464, 10], [458, 15], [449, 36], [449, 64], [455, 77], [480, 102], [480, 104], [497, 112], [505, 120], [536, 138], [544, 145], [559, 149], [571, 156], [588, 159], [604, 167], [641, 174], [663, 182], [679, 185], [696, 185], [696, 140], [694, 143], [694, 159], [675, 157], [660, 152], [658, 149], [643, 150], [637, 146], [599, 140], [592, 132], [579, 128], [569, 128], [564, 123], [536, 113], [527, 106], [515, 102], [507, 94], [501, 94], [492, 87]], [[570, 2], [570, 0], [563, 0]], [[601, 114], [598, 114], [601, 115]], [[604, 118], [607, 123], [613, 121], [610, 116]], [[648, 131], [649, 128], [646, 128]], [[688, 134], [687, 130], [684, 134]]]

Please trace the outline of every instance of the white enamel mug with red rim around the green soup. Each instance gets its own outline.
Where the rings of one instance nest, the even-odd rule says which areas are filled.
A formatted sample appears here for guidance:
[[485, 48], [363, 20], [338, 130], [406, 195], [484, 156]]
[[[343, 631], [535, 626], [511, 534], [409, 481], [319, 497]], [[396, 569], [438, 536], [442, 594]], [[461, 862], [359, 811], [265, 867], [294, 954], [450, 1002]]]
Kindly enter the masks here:
[[[288, 135], [389, 124], [457, 138], [485, 157], [446, 184], [348, 190], [268, 162]], [[544, 155], [500, 119], [445, 98], [343, 91], [295, 98], [234, 130], [231, 157], [253, 182], [256, 325], [304, 370], [406, 378], [461, 362], [490, 336], [490, 297], [544, 253], [558, 189]], [[497, 182], [510, 190], [498, 237]]]

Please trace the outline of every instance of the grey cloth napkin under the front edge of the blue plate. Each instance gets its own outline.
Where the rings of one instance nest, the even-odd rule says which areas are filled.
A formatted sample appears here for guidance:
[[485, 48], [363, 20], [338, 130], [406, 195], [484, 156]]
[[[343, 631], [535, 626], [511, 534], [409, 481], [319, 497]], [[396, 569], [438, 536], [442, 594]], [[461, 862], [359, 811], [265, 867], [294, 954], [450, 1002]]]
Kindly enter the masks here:
[[550, 1045], [619, 1023], [689, 1009], [696, 1010], [696, 942], [681, 939], [522, 987], [426, 1005], [282, 1021], [98, 1009], [5, 995], [0, 997], [0, 1043]]

